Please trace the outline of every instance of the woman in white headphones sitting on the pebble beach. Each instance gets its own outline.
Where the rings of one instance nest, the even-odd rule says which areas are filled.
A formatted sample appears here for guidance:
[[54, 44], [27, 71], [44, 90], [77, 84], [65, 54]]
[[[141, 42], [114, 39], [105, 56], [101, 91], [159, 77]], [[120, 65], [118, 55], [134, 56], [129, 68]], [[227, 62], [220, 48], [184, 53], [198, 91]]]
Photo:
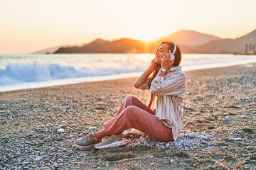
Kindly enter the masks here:
[[[75, 145], [95, 145], [97, 149], [119, 147], [125, 145], [122, 132], [129, 128], [144, 132], [155, 140], [176, 140], [182, 128], [186, 91], [186, 74], [181, 70], [180, 62], [179, 47], [172, 42], [161, 42], [149, 68], [134, 82], [137, 89], [150, 89], [149, 103], [145, 105], [135, 96], [127, 96], [114, 118], [104, 124], [104, 129], [75, 140]], [[103, 137], [106, 138], [102, 142]]]

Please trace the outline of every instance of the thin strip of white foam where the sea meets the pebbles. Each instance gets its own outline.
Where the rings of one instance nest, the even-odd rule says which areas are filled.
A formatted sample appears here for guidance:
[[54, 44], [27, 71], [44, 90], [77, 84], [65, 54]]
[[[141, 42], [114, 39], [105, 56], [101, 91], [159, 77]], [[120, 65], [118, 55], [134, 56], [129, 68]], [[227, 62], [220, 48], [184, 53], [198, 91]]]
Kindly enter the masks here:
[[[242, 64], [235, 64], [235, 65], [224, 65], [224, 66], [220, 66], [220, 67], [209, 67], [209, 68], [199, 68], [199, 69], [192, 69], [192, 70], [186, 70], [183, 72], [193, 72], [193, 71], [198, 71], [198, 70], [207, 70], [207, 69], [218, 69], [218, 68], [225, 68], [225, 67], [236, 67], [236, 66], [240, 66], [240, 65], [247, 65], [247, 64], [255, 64], [256, 62], [246, 62], [246, 63], [242, 63]], [[1, 92], [8, 92], [8, 91], [18, 91], [18, 90], [26, 90], [26, 89], [38, 89], [38, 88], [46, 88], [46, 87], [50, 87], [50, 86], [65, 86], [65, 85], [72, 85], [72, 84], [83, 84], [83, 83], [90, 83], [90, 82], [97, 82], [97, 81], [112, 81], [115, 79], [129, 79], [129, 78], [134, 78], [134, 77], [139, 77], [139, 75], [142, 74], [142, 72], [134, 72], [134, 73], [124, 73], [124, 74], [114, 74], [114, 75], [110, 75], [110, 76], [103, 76], [97, 79], [97, 77], [79, 77], [79, 78], [74, 78], [73, 80], [76, 80], [77, 82], [70, 81], [70, 79], [59, 79], [59, 80], [53, 80], [53, 83], [51, 83], [52, 81], [41, 81], [41, 82], [28, 82], [28, 83], [24, 83], [24, 84], [28, 84], [28, 87], [25, 87], [24, 84], [21, 84], [21, 86], [23, 86], [23, 88], [19, 89], [18, 86], [19, 84], [14, 84], [14, 85], [10, 85], [10, 86], [14, 86], [13, 89], [8, 89], [8, 86], [2, 86], [2, 88], [4, 87], [7, 90], [4, 91], [0, 91]], [[134, 75], [132, 77], [130, 77], [130, 75]], [[136, 75], [136, 76], [135, 76]], [[122, 78], [124, 77], [124, 78]], [[83, 79], [83, 80], [82, 80]], [[85, 79], [90, 79], [89, 81], [85, 81]], [[65, 83], [63, 83], [65, 81]], [[56, 83], [54, 83], [56, 82]], [[31, 85], [30, 84], [34, 84]], [[38, 85], [39, 84], [39, 85]], [[42, 85], [40, 85], [42, 84]], [[44, 84], [44, 85], [43, 85]], [[47, 85], [48, 84], [48, 85]], [[1, 86], [0, 86], [1, 87]]]

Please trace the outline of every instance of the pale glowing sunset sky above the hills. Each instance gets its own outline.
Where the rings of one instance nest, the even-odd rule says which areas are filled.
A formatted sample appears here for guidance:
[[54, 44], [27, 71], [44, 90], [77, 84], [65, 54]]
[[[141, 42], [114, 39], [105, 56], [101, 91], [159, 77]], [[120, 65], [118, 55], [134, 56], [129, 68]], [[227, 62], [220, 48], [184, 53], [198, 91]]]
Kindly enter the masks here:
[[0, 55], [96, 38], [154, 40], [178, 30], [238, 38], [256, 29], [255, 0], [0, 0]]

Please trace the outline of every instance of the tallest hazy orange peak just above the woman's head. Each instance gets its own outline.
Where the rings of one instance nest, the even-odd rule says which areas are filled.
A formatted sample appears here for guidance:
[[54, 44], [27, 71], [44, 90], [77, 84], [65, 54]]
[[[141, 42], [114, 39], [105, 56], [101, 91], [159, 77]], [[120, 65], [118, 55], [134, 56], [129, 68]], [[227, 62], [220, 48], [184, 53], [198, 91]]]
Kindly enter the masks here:
[[175, 33], [159, 38], [159, 40], [172, 40], [177, 44], [196, 46], [203, 45], [212, 40], [222, 40], [213, 35], [199, 33], [195, 30], [179, 30]]

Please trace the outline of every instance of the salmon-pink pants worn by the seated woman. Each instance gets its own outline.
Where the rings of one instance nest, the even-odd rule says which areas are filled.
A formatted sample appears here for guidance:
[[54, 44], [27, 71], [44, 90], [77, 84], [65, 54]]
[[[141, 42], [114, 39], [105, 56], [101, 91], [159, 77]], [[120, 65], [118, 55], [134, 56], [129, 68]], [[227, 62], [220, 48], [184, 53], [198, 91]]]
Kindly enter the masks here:
[[127, 96], [110, 122], [104, 124], [106, 135], [116, 135], [135, 128], [159, 141], [174, 141], [172, 129], [154, 116], [155, 111], [135, 96]]

